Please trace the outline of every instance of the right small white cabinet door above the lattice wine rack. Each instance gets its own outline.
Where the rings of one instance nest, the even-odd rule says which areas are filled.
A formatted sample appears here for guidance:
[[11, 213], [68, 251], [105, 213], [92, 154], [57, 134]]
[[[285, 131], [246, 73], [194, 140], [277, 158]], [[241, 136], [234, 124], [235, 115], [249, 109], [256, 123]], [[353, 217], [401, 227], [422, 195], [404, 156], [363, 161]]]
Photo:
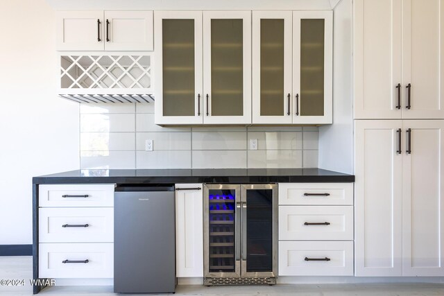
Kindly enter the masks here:
[[103, 21], [105, 50], [153, 51], [153, 11], [105, 11]]

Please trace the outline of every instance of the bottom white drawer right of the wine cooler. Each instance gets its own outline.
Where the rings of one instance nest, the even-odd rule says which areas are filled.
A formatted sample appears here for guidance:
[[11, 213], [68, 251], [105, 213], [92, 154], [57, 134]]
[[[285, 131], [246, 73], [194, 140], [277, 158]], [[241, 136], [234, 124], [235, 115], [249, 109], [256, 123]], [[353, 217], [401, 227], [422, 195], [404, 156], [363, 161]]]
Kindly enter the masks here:
[[353, 275], [353, 242], [280, 241], [279, 275]]

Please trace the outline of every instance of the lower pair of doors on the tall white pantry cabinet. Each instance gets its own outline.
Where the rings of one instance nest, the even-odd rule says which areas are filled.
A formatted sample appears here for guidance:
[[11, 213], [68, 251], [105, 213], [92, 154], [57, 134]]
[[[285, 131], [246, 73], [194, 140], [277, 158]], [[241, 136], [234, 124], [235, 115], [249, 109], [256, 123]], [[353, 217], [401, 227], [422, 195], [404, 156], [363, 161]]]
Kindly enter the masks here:
[[357, 276], [443, 276], [444, 121], [355, 122]]

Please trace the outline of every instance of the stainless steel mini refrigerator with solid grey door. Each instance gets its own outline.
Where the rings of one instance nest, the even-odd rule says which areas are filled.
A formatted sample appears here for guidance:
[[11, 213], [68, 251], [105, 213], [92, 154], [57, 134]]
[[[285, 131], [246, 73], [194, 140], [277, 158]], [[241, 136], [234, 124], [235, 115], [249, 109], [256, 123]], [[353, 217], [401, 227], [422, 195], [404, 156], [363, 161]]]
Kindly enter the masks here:
[[114, 292], [174, 293], [174, 186], [117, 186]]

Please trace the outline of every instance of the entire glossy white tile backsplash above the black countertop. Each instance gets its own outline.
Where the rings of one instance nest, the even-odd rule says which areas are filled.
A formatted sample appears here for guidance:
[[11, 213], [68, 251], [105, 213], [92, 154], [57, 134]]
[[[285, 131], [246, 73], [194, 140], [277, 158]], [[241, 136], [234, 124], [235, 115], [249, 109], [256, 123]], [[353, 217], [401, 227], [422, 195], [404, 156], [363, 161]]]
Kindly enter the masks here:
[[[153, 151], [145, 141], [153, 139]], [[257, 139], [257, 150], [250, 150]], [[162, 128], [154, 104], [80, 105], [80, 168], [316, 168], [317, 127]]]

